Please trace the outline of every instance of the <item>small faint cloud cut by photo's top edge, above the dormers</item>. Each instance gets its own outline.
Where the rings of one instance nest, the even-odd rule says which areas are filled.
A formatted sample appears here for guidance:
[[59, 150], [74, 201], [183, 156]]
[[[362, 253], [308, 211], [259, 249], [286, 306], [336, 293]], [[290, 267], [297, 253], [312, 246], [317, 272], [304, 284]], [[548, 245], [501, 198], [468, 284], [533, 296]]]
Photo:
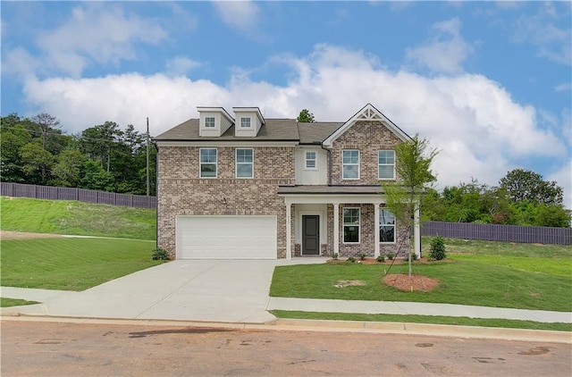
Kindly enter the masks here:
[[233, 29], [248, 31], [257, 28], [260, 8], [251, 1], [214, 1], [214, 9], [224, 23]]

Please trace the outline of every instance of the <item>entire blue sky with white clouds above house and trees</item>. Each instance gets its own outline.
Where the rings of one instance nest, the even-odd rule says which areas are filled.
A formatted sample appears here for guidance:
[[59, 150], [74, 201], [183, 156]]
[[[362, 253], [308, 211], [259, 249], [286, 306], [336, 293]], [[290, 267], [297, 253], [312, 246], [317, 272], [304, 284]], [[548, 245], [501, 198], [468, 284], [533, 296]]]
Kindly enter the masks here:
[[371, 103], [442, 150], [440, 186], [515, 168], [572, 207], [570, 2], [10, 2], [2, 114], [157, 135], [198, 105], [346, 121]]

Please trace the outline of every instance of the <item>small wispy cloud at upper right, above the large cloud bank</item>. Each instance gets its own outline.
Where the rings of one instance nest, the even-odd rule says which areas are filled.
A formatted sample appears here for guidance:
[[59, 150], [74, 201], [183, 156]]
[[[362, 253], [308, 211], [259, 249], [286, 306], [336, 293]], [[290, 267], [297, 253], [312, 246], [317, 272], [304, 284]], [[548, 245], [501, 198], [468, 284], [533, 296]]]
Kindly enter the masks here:
[[457, 18], [433, 24], [433, 38], [424, 45], [408, 48], [409, 61], [436, 72], [458, 73], [462, 63], [474, 49], [460, 36]]

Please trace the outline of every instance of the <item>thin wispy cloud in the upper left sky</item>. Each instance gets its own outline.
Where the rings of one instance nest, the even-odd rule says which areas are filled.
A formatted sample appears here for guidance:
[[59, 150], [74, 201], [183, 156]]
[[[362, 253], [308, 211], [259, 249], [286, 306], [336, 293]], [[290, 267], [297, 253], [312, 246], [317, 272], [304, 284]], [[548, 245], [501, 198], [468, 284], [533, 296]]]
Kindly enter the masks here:
[[90, 63], [114, 63], [137, 57], [136, 44], [156, 44], [164, 29], [150, 19], [123, 12], [117, 5], [97, 3], [73, 8], [59, 28], [40, 34], [38, 48], [47, 69], [80, 77]]

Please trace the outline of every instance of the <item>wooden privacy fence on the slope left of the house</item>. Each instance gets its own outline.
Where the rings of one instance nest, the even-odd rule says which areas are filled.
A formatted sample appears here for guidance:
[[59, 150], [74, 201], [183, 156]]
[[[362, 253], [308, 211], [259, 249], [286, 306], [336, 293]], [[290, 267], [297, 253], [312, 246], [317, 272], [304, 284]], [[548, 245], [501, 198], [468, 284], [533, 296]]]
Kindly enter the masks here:
[[0, 182], [0, 195], [4, 197], [33, 197], [48, 200], [79, 200], [100, 205], [125, 205], [138, 208], [156, 208], [157, 198], [143, 195], [117, 194], [95, 189], [59, 188]]

